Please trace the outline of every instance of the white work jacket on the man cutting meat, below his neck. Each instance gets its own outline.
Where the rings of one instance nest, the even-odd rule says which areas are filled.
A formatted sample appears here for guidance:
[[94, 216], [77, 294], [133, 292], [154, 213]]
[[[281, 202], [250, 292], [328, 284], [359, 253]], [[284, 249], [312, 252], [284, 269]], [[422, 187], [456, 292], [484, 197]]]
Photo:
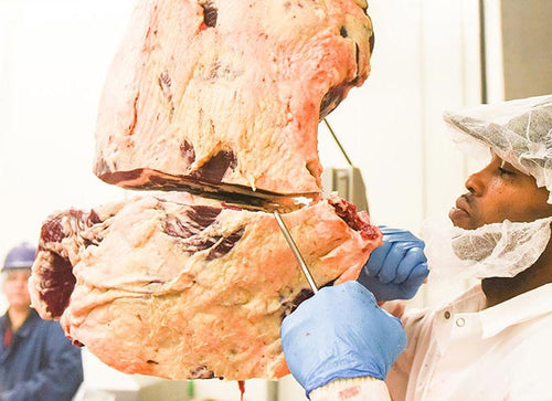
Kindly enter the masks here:
[[485, 300], [478, 284], [405, 314], [408, 345], [386, 380], [393, 400], [552, 400], [552, 284]]

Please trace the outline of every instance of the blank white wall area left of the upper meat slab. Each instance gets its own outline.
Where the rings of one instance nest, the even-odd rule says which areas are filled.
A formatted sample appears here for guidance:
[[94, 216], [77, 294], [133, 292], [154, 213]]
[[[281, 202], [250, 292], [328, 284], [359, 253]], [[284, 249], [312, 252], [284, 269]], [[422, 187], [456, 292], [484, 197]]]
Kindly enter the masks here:
[[123, 191], [92, 173], [106, 70], [135, 0], [0, 1], [0, 257], [53, 211]]

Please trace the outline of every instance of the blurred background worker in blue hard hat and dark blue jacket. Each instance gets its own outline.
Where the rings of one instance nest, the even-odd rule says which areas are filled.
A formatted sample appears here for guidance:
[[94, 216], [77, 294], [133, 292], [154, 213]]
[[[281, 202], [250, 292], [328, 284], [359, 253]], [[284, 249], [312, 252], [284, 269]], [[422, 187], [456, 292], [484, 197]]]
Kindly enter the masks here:
[[0, 400], [71, 400], [83, 381], [81, 350], [57, 321], [31, 308], [26, 286], [36, 250], [13, 247], [2, 266], [8, 310], [0, 317]]

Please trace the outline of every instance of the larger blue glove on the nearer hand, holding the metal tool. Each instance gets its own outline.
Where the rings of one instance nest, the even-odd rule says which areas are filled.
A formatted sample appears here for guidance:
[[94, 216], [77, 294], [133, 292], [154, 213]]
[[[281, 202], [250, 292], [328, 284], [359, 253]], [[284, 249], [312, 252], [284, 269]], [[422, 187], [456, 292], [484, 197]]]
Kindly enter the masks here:
[[306, 390], [333, 379], [385, 379], [406, 346], [401, 320], [381, 309], [361, 284], [321, 288], [282, 323], [289, 370]]

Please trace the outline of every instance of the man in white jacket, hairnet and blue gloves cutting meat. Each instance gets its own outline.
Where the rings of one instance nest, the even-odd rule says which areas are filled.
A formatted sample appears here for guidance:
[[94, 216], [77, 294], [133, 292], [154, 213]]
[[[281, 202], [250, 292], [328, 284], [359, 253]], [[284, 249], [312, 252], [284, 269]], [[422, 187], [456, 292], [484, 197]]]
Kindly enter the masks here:
[[[286, 360], [312, 401], [550, 400], [552, 96], [445, 120], [490, 148], [449, 212], [448, 234], [424, 249], [385, 229], [358, 282], [323, 288], [283, 321]], [[435, 309], [397, 314], [400, 321], [378, 303], [417, 291], [424, 253], [431, 279], [477, 284]]]

